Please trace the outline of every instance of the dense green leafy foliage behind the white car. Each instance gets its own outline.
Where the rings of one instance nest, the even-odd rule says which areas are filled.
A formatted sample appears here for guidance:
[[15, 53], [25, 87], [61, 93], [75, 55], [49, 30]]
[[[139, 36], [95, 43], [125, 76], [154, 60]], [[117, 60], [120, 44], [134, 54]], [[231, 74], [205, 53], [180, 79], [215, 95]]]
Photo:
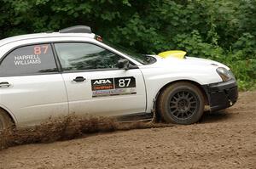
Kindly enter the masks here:
[[182, 49], [256, 88], [256, 0], [0, 0], [0, 38], [90, 25], [143, 54]]

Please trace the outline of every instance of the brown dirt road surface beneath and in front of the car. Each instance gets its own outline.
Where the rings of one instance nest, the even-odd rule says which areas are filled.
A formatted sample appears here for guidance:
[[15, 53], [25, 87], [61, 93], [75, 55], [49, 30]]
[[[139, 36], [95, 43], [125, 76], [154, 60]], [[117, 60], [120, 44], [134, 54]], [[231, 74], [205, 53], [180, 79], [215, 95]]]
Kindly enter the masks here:
[[256, 92], [199, 124], [108, 132], [0, 151], [0, 168], [256, 168]]

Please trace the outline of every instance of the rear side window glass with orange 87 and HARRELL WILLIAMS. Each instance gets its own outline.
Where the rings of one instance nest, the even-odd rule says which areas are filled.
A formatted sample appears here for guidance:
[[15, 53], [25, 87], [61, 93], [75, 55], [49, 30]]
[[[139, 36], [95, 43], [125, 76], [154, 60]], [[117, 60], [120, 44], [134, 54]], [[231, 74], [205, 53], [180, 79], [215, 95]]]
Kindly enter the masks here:
[[26, 76], [57, 71], [52, 48], [38, 44], [16, 48], [0, 65], [0, 76]]

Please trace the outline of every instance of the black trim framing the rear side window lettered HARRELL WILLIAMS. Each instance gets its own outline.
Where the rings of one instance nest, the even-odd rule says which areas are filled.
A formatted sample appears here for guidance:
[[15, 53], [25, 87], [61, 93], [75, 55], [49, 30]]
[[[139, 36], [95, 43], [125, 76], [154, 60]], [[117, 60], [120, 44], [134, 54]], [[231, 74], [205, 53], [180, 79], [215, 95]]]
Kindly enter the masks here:
[[[54, 54], [54, 50], [53, 50], [53, 45], [52, 42], [32, 42], [32, 43], [26, 43], [26, 44], [22, 44], [22, 45], [18, 45], [15, 48], [11, 48], [7, 53], [3, 54], [3, 57], [0, 59], [0, 66], [3, 63], [3, 60], [8, 57], [9, 54], [11, 54], [12, 52], [14, 52], [16, 49], [18, 48], [24, 48], [24, 47], [29, 47], [29, 46], [33, 46], [33, 45], [44, 45], [44, 44], [49, 44], [51, 46], [51, 50], [52, 50], [52, 54], [55, 60], [55, 66], [56, 66], [56, 71], [53, 72], [38, 72], [38, 73], [28, 73], [28, 74], [23, 74], [23, 75], [15, 75], [15, 76], [40, 76], [40, 75], [55, 75], [55, 74], [60, 74], [61, 70], [60, 67], [57, 64], [56, 61], [56, 56]], [[0, 76], [0, 77], [8, 77], [9, 75], [6, 76]]]

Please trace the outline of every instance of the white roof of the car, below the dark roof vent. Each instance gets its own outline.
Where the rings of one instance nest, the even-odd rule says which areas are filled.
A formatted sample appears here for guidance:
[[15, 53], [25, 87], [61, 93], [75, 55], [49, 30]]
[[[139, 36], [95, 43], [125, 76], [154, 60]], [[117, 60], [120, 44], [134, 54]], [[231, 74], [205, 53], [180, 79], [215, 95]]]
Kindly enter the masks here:
[[94, 38], [96, 35], [94, 33], [60, 33], [60, 32], [50, 32], [50, 33], [34, 33], [26, 34], [15, 37], [8, 37], [0, 40], [0, 47], [6, 45], [10, 42], [18, 42], [29, 39], [38, 39], [38, 38], [48, 38], [48, 37], [88, 37]]

